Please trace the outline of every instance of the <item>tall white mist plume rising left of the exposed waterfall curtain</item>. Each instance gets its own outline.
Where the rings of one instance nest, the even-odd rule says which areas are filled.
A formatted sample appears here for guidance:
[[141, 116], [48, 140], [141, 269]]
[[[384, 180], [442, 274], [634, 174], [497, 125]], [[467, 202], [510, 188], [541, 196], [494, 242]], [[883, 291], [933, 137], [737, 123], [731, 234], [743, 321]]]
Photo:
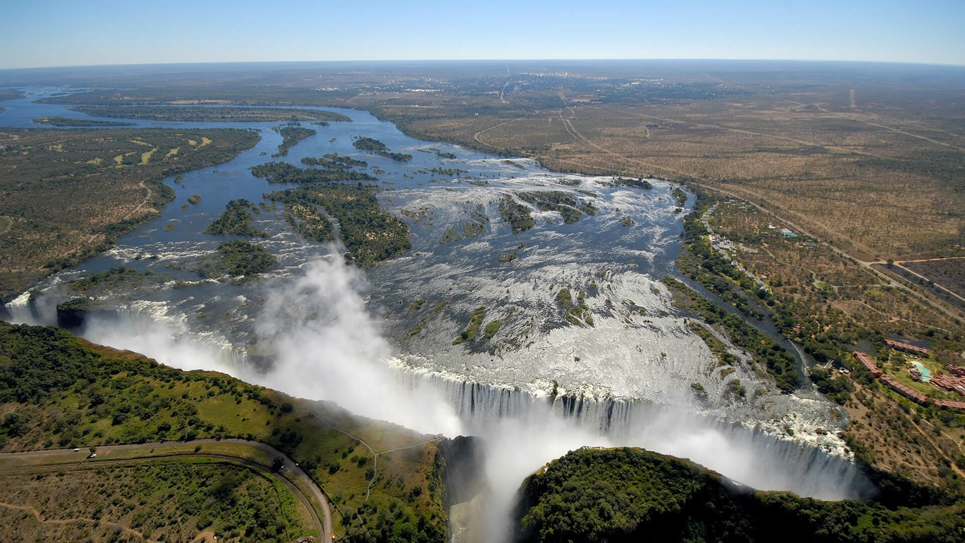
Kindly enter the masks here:
[[402, 386], [385, 363], [392, 348], [366, 310], [365, 277], [332, 252], [293, 284], [270, 290], [256, 331], [275, 362], [262, 385], [420, 432], [459, 435], [451, 405], [429, 386]]

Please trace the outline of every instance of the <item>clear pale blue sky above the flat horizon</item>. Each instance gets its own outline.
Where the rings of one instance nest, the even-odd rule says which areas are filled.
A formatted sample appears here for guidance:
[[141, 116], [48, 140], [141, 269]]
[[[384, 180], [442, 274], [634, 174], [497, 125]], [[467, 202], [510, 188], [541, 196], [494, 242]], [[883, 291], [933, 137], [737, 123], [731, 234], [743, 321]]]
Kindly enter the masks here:
[[6, 5], [0, 29], [0, 69], [585, 58], [965, 65], [965, 0], [21, 1]]

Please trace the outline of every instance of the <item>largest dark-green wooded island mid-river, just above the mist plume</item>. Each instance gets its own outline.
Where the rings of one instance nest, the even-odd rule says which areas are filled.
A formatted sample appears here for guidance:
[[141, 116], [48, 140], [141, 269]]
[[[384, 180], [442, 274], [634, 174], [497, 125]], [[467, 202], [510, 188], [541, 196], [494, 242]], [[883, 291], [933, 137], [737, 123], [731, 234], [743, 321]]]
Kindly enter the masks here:
[[[339, 236], [347, 249], [345, 258], [349, 262], [373, 266], [379, 261], [409, 250], [412, 246], [408, 227], [395, 215], [382, 211], [373, 186], [313, 183], [271, 192], [264, 197], [284, 202], [286, 208], [294, 214], [298, 214], [299, 209], [294, 206], [301, 206], [307, 211], [318, 206], [335, 217], [339, 221]], [[331, 227], [323, 225], [320, 214], [314, 220], [310, 220], [308, 214], [304, 213], [300, 214], [299, 218], [299, 232], [303, 232], [304, 225], [304, 228], [315, 231], [320, 236], [330, 235]]]

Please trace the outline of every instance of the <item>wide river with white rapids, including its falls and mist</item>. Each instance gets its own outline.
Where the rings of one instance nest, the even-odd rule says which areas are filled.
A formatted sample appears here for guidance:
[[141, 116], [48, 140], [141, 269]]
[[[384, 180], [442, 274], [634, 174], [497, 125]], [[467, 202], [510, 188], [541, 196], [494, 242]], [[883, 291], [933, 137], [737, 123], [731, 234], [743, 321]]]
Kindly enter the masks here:
[[[7, 107], [0, 125], [35, 126], [32, 119], [44, 115], [84, 117], [31, 101], [57, 89], [30, 91], [26, 99], [0, 102]], [[377, 174], [379, 198], [408, 224], [408, 253], [364, 276], [343, 272], [344, 266], [331, 264], [337, 249], [302, 241], [278, 209], [256, 216], [255, 227], [269, 234], [257, 243], [279, 260], [261, 281], [176, 288], [177, 281], [198, 280], [187, 271], [192, 263], [234, 238], [201, 233], [229, 200], [259, 202], [263, 192], [286, 187], [269, 186], [248, 171], [272, 159], [281, 142], [271, 131], [278, 123], [191, 124], [261, 129], [262, 141], [229, 162], [185, 174], [182, 186], [168, 180], [177, 199], [160, 216], [119, 238], [107, 253], [43, 281], [41, 296], [8, 304], [9, 320], [54, 323], [55, 305], [75, 294], [71, 279], [116, 266], [151, 270], [162, 280], [98, 293], [100, 305], [115, 316], [81, 333], [176, 367], [219, 369], [427, 432], [474, 433], [506, 446], [557, 443], [534, 449], [537, 465], [525, 465], [531, 471], [565, 447], [629, 444], [689, 457], [758, 488], [832, 499], [867, 496], [867, 481], [837, 438], [845, 419], [833, 404], [813, 389], [781, 394], [732, 346], [742, 361], [720, 367], [689, 329], [688, 317], [672, 306], [657, 280], [678, 275], [679, 219], [689, 210], [676, 212], [670, 184], [655, 181], [643, 190], [613, 186], [610, 178], [553, 173], [528, 159], [417, 141], [368, 113], [337, 111], [353, 122], [304, 124], [317, 135], [281, 159], [300, 166], [302, 157], [334, 152], [386, 172]], [[358, 153], [353, 135], [378, 139], [413, 159], [403, 164]], [[424, 173], [429, 168], [468, 173]], [[559, 213], [534, 210], [536, 227], [513, 234], [500, 218], [500, 200], [549, 189], [592, 202], [597, 211], [565, 224]], [[181, 211], [188, 194], [201, 195], [201, 203]], [[632, 224], [624, 225], [624, 217]], [[169, 222], [176, 227], [164, 232]], [[482, 226], [478, 236], [447, 236], [451, 227], [461, 235], [473, 223]], [[515, 259], [500, 260], [510, 253]], [[319, 259], [330, 264], [319, 269], [313, 264]], [[298, 296], [306, 287], [323, 296], [303, 304]], [[566, 321], [558, 299], [565, 288], [574, 301], [583, 293], [592, 325]], [[276, 329], [272, 307], [280, 297], [304, 308], [303, 319], [325, 317], [299, 329], [300, 335]], [[502, 326], [491, 338], [481, 327], [476, 341], [454, 344], [477, 307], [486, 308], [483, 327], [496, 319]], [[746, 398], [728, 393], [733, 378], [748, 389]], [[382, 387], [384, 401], [359, 400], [372, 395], [372, 386]], [[695, 386], [705, 397], [695, 396]], [[524, 432], [507, 444], [507, 422], [531, 429], [529, 437]]]

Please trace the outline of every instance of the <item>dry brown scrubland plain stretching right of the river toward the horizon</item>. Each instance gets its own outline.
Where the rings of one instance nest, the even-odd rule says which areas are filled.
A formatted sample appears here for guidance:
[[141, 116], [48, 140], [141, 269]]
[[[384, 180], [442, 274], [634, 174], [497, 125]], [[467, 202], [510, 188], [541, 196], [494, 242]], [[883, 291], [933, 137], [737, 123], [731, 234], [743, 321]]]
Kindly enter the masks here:
[[[863, 103], [857, 92], [856, 108], [842, 89], [672, 105], [580, 105], [562, 91], [556, 109], [383, 111], [413, 117], [410, 133], [519, 151], [554, 169], [693, 178], [762, 203], [863, 260], [957, 254], [965, 241], [961, 120], [941, 114], [945, 101], [879, 93]], [[427, 114], [433, 107], [438, 114]]]

